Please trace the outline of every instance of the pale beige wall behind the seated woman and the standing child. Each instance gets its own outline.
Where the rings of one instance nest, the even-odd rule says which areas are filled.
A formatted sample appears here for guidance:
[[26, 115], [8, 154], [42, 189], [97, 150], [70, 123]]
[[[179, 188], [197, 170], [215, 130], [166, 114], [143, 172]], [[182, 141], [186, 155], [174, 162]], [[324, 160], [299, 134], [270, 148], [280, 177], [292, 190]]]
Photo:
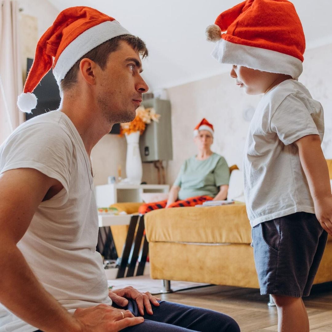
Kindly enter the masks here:
[[[308, 50], [299, 81], [320, 101], [325, 111], [325, 136], [322, 148], [332, 158], [332, 44]], [[214, 125], [212, 150], [228, 164], [242, 166], [242, 153], [249, 122], [243, 118], [248, 107], [256, 107], [260, 96], [248, 96], [237, 87], [229, 73], [168, 89], [172, 107], [174, 160], [169, 162], [167, 181], [172, 183], [186, 158], [196, 153], [192, 132], [207, 118]]]

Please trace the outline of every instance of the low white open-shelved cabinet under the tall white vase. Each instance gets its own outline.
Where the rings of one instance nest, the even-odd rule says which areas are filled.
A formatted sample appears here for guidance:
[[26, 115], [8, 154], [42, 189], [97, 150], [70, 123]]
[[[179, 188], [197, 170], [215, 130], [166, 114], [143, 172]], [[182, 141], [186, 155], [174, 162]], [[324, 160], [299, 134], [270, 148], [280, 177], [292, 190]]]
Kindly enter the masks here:
[[168, 193], [169, 185], [130, 185], [112, 183], [95, 187], [97, 207], [119, 202], [143, 202], [142, 193]]

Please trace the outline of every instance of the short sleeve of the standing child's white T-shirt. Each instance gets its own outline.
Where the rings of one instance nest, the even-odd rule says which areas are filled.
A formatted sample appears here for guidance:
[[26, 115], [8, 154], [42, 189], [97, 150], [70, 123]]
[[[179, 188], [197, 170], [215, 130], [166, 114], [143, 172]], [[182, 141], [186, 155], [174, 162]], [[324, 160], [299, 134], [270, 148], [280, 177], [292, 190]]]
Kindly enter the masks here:
[[308, 100], [291, 94], [272, 115], [270, 128], [285, 145], [289, 145], [303, 136], [319, 135], [312, 114]]

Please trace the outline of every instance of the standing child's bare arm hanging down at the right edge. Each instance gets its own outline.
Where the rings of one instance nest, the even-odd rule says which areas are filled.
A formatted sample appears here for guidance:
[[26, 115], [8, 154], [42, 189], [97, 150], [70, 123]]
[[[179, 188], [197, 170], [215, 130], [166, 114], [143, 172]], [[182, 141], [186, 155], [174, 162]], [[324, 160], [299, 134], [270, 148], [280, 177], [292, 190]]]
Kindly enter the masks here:
[[332, 235], [332, 194], [320, 137], [303, 136], [294, 144], [298, 147], [301, 165], [314, 201], [316, 217], [322, 227]]

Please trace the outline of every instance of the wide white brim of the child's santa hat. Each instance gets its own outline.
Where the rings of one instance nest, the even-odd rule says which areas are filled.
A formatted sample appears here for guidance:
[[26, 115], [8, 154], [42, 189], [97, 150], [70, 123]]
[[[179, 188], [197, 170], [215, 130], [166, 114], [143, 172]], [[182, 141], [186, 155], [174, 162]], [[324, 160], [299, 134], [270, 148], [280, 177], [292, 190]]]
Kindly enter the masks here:
[[303, 69], [301, 60], [294, 56], [271, 49], [235, 44], [224, 39], [217, 41], [211, 55], [220, 63], [287, 74], [295, 80], [301, 75]]

